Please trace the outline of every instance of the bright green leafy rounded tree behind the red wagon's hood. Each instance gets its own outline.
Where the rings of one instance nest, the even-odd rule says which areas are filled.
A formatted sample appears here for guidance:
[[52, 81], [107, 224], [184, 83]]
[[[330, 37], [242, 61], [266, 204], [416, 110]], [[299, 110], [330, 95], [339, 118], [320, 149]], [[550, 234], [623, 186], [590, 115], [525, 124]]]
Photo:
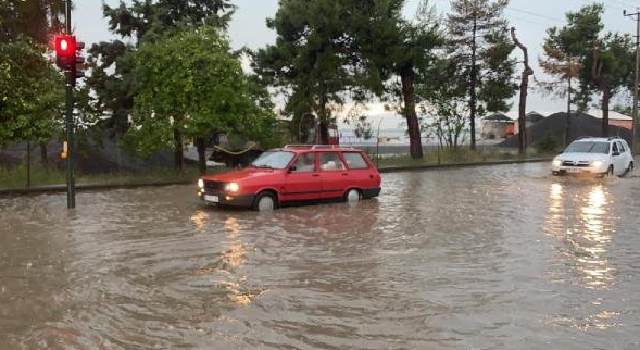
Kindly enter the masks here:
[[134, 55], [133, 127], [127, 143], [146, 155], [170, 145], [183, 168], [183, 145], [194, 139], [204, 172], [206, 139], [219, 132], [255, 140], [272, 135], [273, 105], [264, 88], [242, 72], [228, 39], [213, 27], [143, 41]]

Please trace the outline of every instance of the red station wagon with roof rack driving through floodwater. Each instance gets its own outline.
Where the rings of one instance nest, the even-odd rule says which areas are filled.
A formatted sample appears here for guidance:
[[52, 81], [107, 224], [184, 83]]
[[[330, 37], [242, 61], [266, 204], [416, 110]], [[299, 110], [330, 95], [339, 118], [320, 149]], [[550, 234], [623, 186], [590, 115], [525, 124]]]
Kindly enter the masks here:
[[208, 203], [273, 210], [300, 201], [357, 201], [380, 193], [380, 174], [359, 149], [285, 146], [260, 155], [250, 166], [198, 180]]

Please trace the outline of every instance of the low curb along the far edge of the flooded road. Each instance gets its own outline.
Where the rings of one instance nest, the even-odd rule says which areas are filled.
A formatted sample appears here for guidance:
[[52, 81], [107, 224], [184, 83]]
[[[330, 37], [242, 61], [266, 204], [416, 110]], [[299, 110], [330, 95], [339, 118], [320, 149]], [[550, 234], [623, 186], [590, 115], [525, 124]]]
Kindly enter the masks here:
[[[522, 163], [540, 163], [551, 161], [550, 158], [540, 159], [526, 159], [526, 160], [505, 160], [505, 161], [493, 161], [493, 162], [470, 162], [470, 163], [454, 163], [454, 164], [434, 164], [434, 165], [415, 165], [415, 166], [387, 166], [378, 168], [378, 172], [385, 173], [400, 173], [400, 172], [418, 172], [428, 170], [443, 170], [443, 168], [456, 168], [456, 167], [470, 167], [470, 166], [490, 166], [490, 165], [507, 165], [507, 164], [522, 164]], [[174, 185], [189, 185], [196, 184], [196, 179], [192, 180], [167, 180], [167, 182], [131, 182], [131, 183], [115, 183], [115, 184], [81, 184], [76, 186], [78, 191], [95, 191], [95, 190], [108, 190], [108, 189], [125, 189], [125, 188], [139, 188], [139, 187], [161, 187], [161, 186], [174, 186]], [[12, 189], [0, 189], [0, 196], [22, 196], [22, 195], [39, 195], [39, 193], [57, 193], [65, 192], [66, 185], [49, 185], [38, 186], [30, 188], [12, 188]]]

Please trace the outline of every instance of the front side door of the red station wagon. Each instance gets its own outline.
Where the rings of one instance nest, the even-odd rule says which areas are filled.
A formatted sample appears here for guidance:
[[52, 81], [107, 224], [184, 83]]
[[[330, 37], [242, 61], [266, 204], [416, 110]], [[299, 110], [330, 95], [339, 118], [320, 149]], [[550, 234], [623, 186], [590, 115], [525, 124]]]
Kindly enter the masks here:
[[280, 191], [281, 201], [319, 199], [322, 178], [317, 171], [316, 152], [301, 153], [291, 164]]

